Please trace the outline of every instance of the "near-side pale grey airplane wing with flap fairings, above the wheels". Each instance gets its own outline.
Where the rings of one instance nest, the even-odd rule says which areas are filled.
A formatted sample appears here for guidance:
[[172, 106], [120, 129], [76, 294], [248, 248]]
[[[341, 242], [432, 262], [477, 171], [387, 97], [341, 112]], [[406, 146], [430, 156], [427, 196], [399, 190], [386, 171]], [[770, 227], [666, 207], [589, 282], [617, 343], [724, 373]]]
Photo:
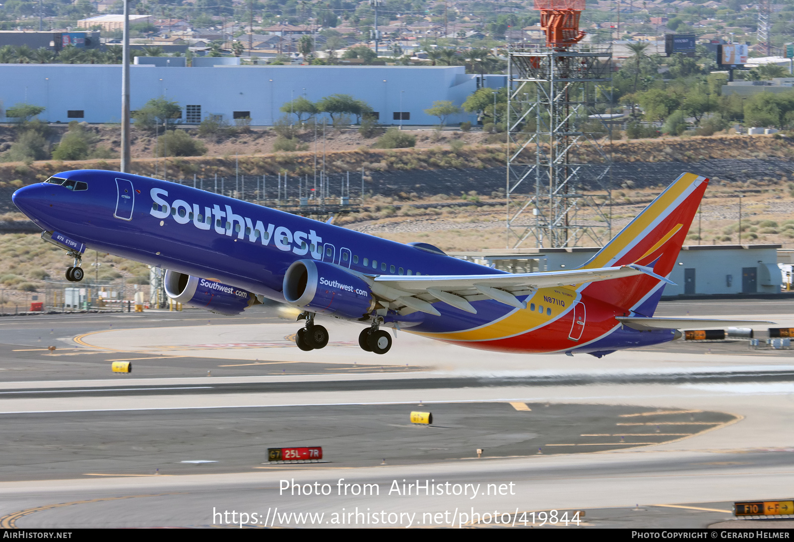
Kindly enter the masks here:
[[468, 313], [476, 313], [470, 302], [493, 299], [505, 305], [526, 309], [526, 302], [519, 301], [517, 296], [533, 294], [538, 288], [592, 283], [633, 275], [651, 275], [670, 282], [653, 273], [648, 267], [635, 264], [499, 275], [364, 275], [364, 279], [370, 284], [376, 298], [388, 302], [391, 309], [396, 309], [401, 314], [422, 311], [441, 316], [431, 303], [441, 301]]

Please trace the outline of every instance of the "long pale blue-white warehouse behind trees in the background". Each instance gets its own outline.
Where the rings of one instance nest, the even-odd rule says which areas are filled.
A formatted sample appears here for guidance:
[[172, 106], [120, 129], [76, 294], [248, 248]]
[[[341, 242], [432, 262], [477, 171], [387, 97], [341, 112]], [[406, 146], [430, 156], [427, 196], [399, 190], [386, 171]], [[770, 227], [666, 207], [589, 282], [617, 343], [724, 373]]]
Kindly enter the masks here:
[[[200, 60], [217, 60], [218, 65], [131, 65], [130, 109], [163, 96], [182, 106], [187, 124], [218, 115], [272, 125], [284, 114], [279, 108], [293, 98], [303, 95], [315, 102], [330, 94], [351, 94], [372, 106], [383, 125], [399, 125], [400, 120], [435, 125], [437, 117], [424, 112], [433, 102], [460, 106], [476, 90], [476, 75], [467, 74], [463, 66], [240, 66], [227, 64], [237, 59]], [[39, 117], [50, 122], [118, 122], [121, 65], [0, 64], [0, 99], [3, 115], [5, 108], [25, 102], [44, 106]], [[475, 120], [461, 113], [449, 117], [447, 124]]]

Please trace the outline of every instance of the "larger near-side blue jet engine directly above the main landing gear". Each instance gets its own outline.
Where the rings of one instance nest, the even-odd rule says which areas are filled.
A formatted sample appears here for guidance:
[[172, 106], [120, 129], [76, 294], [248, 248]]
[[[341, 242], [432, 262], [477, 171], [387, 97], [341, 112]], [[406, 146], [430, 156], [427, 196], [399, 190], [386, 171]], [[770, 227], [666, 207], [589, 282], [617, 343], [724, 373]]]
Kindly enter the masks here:
[[283, 295], [300, 309], [349, 319], [363, 319], [375, 308], [363, 279], [341, 267], [299, 259], [284, 275]]

